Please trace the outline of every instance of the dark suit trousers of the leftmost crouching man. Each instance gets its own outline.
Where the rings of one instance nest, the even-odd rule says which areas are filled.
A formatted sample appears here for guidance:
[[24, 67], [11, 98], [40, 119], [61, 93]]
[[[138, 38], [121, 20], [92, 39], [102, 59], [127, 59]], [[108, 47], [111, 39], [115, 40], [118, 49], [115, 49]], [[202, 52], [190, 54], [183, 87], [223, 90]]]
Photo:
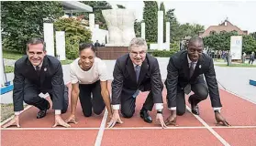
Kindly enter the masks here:
[[[39, 93], [42, 92], [46, 94], [47, 92], [50, 94], [50, 99], [52, 100], [52, 89], [43, 89], [39, 88], [35, 84], [31, 84], [27, 82], [24, 87], [24, 102], [28, 105], [32, 105], [37, 107], [39, 110], [45, 110], [48, 108], [49, 101], [47, 99], [43, 99], [39, 97]], [[63, 100], [63, 109], [61, 113], [65, 113], [68, 110], [69, 106], [69, 97], [68, 97], [68, 88], [65, 86], [64, 89], [64, 100]]]

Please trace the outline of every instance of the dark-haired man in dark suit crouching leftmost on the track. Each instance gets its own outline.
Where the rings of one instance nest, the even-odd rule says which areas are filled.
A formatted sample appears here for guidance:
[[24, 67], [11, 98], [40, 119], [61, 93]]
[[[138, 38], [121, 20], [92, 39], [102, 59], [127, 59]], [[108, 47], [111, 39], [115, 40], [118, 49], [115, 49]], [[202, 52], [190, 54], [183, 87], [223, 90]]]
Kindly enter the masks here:
[[21, 57], [15, 63], [15, 78], [13, 90], [13, 102], [15, 118], [5, 127], [19, 126], [18, 115], [23, 110], [23, 101], [39, 109], [37, 119], [46, 116], [50, 109], [47, 99], [39, 97], [39, 93], [49, 93], [52, 100], [52, 109], [55, 110], [55, 124], [70, 127], [61, 119], [61, 113], [68, 108], [68, 89], [64, 85], [61, 62], [46, 55], [45, 43], [38, 38], [32, 38], [27, 44], [27, 55]]

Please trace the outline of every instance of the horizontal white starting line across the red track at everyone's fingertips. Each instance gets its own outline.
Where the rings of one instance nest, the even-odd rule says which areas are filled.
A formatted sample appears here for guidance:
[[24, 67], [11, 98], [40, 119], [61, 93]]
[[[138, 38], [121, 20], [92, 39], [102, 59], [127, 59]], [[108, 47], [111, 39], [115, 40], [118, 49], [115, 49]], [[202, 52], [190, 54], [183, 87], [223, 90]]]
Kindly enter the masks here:
[[[256, 129], [256, 126], [209, 126], [212, 129]], [[166, 130], [187, 130], [187, 129], [207, 129], [205, 126], [177, 126], [168, 127]], [[100, 130], [100, 128], [2, 128], [1, 130]], [[161, 127], [114, 127], [105, 130], [162, 130]], [[165, 130], [165, 129], [164, 129]]]

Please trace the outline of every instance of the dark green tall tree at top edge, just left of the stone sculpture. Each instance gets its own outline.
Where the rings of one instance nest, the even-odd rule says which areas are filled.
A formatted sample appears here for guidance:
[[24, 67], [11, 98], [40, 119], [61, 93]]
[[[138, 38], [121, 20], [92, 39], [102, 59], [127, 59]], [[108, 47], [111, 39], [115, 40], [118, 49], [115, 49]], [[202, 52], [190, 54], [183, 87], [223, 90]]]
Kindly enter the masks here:
[[[106, 21], [102, 15], [102, 10], [112, 9], [112, 6], [106, 1], [80, 1], [85, 5], [90, 5], [93, 7], [93, 14], [95, 14], [95, 23], [99, 25], [102, 29], [107, 29]], [[88, 13], [78, 13], [77, 15], [83, 15], [85, 19], [89, 19]]]

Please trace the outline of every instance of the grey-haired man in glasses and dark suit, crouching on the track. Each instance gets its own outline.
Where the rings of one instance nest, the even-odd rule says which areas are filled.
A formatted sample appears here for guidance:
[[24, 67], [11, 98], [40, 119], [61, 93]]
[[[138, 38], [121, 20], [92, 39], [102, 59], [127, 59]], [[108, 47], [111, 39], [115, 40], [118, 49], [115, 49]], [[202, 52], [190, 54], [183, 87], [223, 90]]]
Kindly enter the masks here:
[[128, 47], [129, 53], [117, 58], [112, 82], [112, 106], [114, 114], [108, 127], [113, 127], [116, 122], [122, 123], [119, 117], [119, 106], [125, 118], [131, 118], [135, 112], [135, 101], [140, 91], [150, 91], [140, 117], [146, 122], [152, 122], [148, 110], [152, 110], [156, 103], [157, 120], [165, 127], [161, 110], [163, 85], [158, 61], [147, 54], [147, 43], [142, 38], [134, 38]]

